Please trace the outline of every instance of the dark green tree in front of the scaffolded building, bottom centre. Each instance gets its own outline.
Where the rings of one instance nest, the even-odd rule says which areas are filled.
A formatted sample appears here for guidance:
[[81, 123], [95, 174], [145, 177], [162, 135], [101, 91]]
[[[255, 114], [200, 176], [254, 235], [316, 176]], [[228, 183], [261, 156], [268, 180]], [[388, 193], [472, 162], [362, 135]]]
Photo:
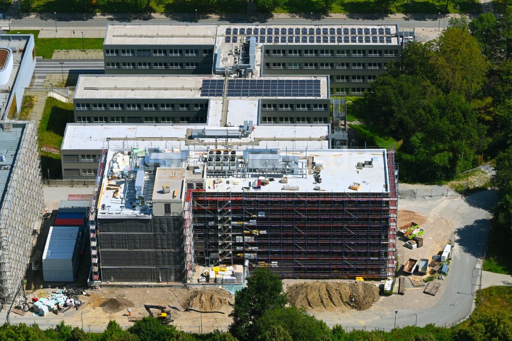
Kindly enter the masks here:
[[287, 302], [283, 283], [267, 268], [256, 268], [247, 286], [234, 296], [233, 323], [229, 331], [241, 340], [251, 339], [254, 322], [265, 311], [283, 308]]

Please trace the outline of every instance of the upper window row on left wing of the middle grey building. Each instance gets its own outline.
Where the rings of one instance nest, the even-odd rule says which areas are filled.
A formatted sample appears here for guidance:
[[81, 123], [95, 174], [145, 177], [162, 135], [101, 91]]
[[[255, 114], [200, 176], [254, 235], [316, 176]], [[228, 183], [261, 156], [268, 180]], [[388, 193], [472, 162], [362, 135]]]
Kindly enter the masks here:
[[76, 103], [76, 110], [206, 110], [208, 103]]

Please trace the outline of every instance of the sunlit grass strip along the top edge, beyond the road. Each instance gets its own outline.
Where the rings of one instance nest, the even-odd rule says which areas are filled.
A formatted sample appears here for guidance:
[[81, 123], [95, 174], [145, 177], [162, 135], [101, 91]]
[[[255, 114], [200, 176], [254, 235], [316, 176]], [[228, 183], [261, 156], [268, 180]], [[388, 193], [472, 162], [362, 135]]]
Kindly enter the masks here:
[[[34, 0], [31, 11], [39, 13], [244, 13], [247, 3], [242, 0], [217, 0], [207, 4], [199, 0], [150, 0], [146, 8], [137, 8], [123, 0], [97, 1], [93, 6], [90, 0]], [[445, 1], [439, 0], [401, 0], [390, 9], [392, 13], [444, 13]], [[478, 1], [460, 2], [459, 8], [452, 2], [450, 13], [478, 13], [481, 6]], [[324, 13], [325, 7], [321, 0], [288, 0], [276, 8], [280, 13]], [[336, 0], [330, 13], [380, 13], [373, 0]]]

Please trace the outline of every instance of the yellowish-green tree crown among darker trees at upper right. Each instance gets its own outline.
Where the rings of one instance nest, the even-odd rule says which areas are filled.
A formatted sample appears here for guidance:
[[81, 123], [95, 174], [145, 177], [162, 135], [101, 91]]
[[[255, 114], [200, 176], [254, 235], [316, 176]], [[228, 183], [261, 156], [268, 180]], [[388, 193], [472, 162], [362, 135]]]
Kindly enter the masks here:
[[472, 98], [482, 87], [488, 62], [467, 30], [449, 28], [435, 41], [432, 58], [437, 81], [445, 93]]

